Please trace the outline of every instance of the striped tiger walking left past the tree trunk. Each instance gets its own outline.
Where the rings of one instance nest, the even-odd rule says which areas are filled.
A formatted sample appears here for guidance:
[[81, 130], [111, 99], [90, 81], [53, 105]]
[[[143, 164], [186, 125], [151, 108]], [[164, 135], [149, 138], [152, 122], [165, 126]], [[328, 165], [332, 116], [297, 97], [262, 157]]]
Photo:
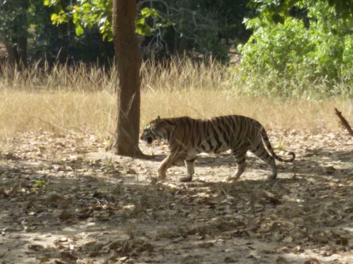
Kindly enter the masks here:
[[148, 145], [154, 140], [168, 142], [169, 155], [158, 167], [158, 178], [161, 181], [166, 179], [168, 168], [184, 161], [187, 176], [180, 178], [180, 181], [190, 182], [195, 174], [196, 157], [202, 152], [219, 153], [229, 149], [232, 151], [237, 170], [233, 174], [234, 177], [229, 177], [228, 181], [238, 180], [243, 174], [248, 150], [270, 166], [272, 174], [269, 175], [269, 180], [277, 177], [275, 159], [281, 162], [292, 162], [295, 159], [294, 152], [288, 152], [288, 155], [292, 155], [290, 159], [277, 156], [263, 125], [242, 115], [226, 115], [210, 119], [158, 116], [144, 127], [140, 139]]

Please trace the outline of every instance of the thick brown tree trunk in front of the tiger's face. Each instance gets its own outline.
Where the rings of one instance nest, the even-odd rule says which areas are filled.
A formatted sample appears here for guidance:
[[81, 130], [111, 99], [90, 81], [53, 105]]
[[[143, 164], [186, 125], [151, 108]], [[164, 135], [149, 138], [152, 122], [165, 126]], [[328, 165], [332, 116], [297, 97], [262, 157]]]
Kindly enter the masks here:
[[111, 145], [119, 155], [136, 156], [140, 127], [140, 50], [135, 34], [135, 0], [113, 0], [113, 42], [119, 72], [118, 117]]

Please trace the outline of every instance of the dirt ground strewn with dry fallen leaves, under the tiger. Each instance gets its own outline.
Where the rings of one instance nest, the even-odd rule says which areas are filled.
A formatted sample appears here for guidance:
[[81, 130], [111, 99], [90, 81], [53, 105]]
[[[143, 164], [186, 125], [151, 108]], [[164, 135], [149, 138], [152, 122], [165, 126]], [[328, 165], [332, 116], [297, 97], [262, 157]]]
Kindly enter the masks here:
[[0, 263], [353, 263], [353, 140], [269, 138], [297, 155], [276, 180], [249, 154], [227, 182], [223, 153], [199, 155], [190, 183], [184, 166], [161, 183], [166, 145], [132, 159], [93, 134], [23, 132], [1, 147]]

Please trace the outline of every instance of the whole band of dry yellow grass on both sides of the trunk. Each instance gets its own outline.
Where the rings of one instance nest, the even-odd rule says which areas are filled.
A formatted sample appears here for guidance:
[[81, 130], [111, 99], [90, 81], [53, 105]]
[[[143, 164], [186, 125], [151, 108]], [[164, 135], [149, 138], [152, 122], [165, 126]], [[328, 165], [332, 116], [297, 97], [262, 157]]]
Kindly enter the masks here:
[[[215, 62], [144, 62], [141, 125], [157, 115], [206, 118], [241, 114], [259, 120], [268, 129], [340, 129], [333, 107], [353, 123], [350, 100], [254, 96], [246, 92], [249, 85], [240, 74], [237, 68]], [[106, 70], [82, 63], [52, 68], [35, 65], [21, 73], [5, 68], [0, 76], [0, 140], [17, 132], [40, 129], [94, 132], [101, 137], [113, 134], [117, 84], [114, 67]]]

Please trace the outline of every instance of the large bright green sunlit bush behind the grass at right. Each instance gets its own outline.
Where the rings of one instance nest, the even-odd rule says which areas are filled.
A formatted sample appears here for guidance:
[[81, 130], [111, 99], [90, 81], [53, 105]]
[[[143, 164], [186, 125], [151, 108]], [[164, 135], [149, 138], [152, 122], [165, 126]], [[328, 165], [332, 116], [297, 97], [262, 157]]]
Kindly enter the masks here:
[[[292, 81], [325, 80], [332, 89], [337, 80], [351, 80], [352, 16], [339, 18], [332, 6], [322, 5], [321, 1], [309, 4], [310, 1], [297, 4], [298, 8], [307, 9], [309, 27], [303, 20], [291, 17], [286, 17], [283, 23], [261, 18], [245, 20], [246, 26], [253, 30], [249, 41], [238, 46], [243, 55], [241, 66], [245, 78], [275, 74]], [[331, 88], [326, 92], [335, 94]]]

